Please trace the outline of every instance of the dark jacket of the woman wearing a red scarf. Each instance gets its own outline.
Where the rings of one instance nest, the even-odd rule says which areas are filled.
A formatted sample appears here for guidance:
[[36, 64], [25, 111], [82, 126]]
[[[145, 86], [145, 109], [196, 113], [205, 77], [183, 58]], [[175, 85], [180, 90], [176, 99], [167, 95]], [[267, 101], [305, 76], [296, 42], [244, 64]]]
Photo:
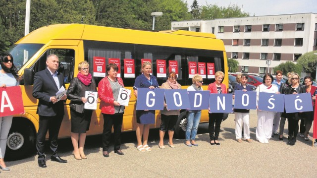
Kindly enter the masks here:
[[[97, 92], [96, 82], [91, 80], [90, 88]], [[82, 90], [81, 81], [75, 77], [71, 80], [67, 90], [67, 99], [70, 100], [69, 107], [78, 113], [84, 113], [84, 103], [81, 101], [80, 92]]]

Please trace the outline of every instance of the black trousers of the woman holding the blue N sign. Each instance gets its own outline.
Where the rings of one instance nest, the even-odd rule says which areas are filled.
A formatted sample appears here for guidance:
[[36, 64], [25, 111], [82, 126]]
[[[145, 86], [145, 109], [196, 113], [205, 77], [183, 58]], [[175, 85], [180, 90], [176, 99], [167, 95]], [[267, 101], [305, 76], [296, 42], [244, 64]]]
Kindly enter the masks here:
[[208, 129], [210, 140], [218, 140], [222, 118], [223, 113], [209, 113]]

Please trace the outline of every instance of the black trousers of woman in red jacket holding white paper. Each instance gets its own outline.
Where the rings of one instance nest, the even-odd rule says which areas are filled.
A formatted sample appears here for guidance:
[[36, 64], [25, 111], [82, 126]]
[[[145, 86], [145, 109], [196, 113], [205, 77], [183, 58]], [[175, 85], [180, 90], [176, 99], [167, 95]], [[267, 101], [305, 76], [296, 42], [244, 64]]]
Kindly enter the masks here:
[[108, 151], [113, 126], [114, 150], [120, 150], [123, 113], [104, 115], [103, 151]]

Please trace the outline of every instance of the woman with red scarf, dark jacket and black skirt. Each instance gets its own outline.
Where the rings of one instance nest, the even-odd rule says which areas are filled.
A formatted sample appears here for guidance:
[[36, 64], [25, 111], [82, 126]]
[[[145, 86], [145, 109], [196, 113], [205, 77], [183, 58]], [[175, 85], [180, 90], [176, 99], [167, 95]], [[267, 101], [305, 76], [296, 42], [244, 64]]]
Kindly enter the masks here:
[[[67, 98], [70, 100], [71, 142], [74, 147], [76, 160], [87, 159], [84, 153], [86, 131], [89, 130], [93, 110], [84, 109], [87, 102], [86, 91], [96, 91], [96, 83], [89, 73], [89, 64], [82, 61], [78, 64], [77, 77], [73, 78], [67, 90]], [[98, 102], [98, 101], [96, 101]]]

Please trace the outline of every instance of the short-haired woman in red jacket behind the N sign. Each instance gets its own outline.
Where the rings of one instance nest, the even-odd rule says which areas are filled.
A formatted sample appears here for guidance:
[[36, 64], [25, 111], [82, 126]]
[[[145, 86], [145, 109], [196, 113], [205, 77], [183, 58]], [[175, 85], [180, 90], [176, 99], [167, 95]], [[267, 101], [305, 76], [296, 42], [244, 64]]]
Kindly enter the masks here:
[[[210, 93], [227, 93], [226, 86], [221, 83], [224, 77], [224, 73], [222, 71], [217, 71], [215, 74], [215, 81], [208, 85], [208, 90]], [[219, 132], [220, 132], [220, 124], [223, 119], [223, 113], [209, 113], [209, 137], [211, 145], [220, 145], [218, 142]]]

